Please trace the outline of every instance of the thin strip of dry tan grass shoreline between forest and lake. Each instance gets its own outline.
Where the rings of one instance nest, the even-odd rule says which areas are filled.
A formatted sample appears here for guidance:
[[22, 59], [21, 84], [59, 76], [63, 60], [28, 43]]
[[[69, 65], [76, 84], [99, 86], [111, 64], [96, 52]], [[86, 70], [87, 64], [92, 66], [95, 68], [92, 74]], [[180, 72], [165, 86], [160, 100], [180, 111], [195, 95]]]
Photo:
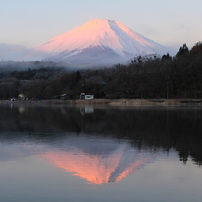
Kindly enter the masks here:
[[93, 99], [93, 100], [0, 100], [0, 104], [39, 104], [65, 106], [202, 106], [202, 99]]

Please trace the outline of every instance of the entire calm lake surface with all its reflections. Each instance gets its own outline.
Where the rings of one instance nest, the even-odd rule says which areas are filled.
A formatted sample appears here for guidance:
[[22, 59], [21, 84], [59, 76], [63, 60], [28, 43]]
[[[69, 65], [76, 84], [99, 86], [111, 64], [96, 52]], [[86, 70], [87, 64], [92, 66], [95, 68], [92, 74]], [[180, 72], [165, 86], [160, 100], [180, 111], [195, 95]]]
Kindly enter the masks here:
[[0, 201], [201, 201], [201, 108], [0, 105]]

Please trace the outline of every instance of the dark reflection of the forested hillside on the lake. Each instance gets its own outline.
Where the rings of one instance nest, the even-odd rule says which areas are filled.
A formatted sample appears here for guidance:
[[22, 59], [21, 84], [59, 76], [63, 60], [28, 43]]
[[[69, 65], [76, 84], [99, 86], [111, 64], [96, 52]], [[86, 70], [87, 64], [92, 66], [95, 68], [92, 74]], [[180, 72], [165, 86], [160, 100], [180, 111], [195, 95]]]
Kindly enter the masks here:
[[[30, 133], [34, 141], [52, 141], [71, 132], [129, 139], [139, 149], [175, 148], [183, 162], [191, 157], [202, 164], [202, 109], [94, 109], [82, 113], [76, 108], [0, 106], [0, 141], [7, 131]], [[13, 133], [12, 133], [13, 134]], [[28, 137], [25, 137], [28, 138]]]

